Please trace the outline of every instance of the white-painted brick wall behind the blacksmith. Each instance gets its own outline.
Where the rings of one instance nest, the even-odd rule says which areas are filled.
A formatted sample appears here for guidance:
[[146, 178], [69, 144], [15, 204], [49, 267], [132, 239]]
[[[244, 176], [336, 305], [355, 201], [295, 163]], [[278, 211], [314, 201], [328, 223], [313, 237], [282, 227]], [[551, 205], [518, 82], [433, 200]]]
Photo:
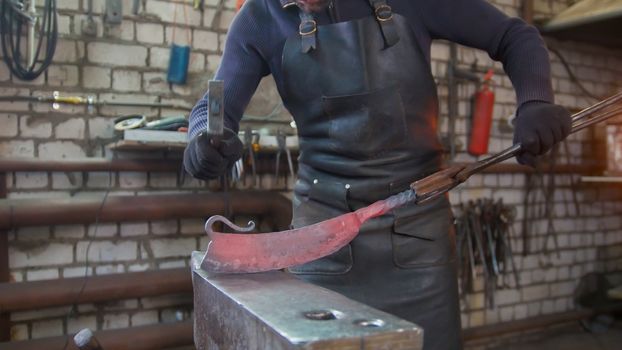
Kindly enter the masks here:
[[[498, 0], [495, 5], [510, 15], [518, 13], [518, 0]], [[203, 93], [211, 72], [220, 60], [226, 29], [234, 15], [234, 1], [206, 0], [200, 13], [189, 2], [143, 1], [139, 15], [129, 14], [131, 1], [124, 2], [123, 22], [117, 26], [102, 23], [103, 1], [94, 1], [97, 37], [81, 35], [86, 19], [87, 0], [58, 2], [61, 39], [54, 63], [34, 82], [12, 78], [0, 64], [0, 95], [94, 95], [103, 100], [138, 102], [175, 102], [191, 106]], [[566, 1], [538, 2], [537, 16], [549, 16], [566, 6]], [[542, 5], [544, 4], [544, 5]], [[185, 8], [185, 10], [184, 10]], [[175, 11], [177, 14], [175, 15]], [[184, 15], [184, 12], [186, 15]], [[175, 31], [176, 42], [192, 43], [188, 84], [166, 83], [169, 45]], [[590, 91], [607, 95], [619, 90], [622, 81], [622, 52], [577, 43], [549, 40], [567, 58], [571, 69]], [[514, 112], [514, 92], [500, 64], [487, 54], [459, 48], [460, 68], [478, 71], [494, 67], [497, 95], [490, 152], [511, 145], [511, 132], [504, 131], [507, 117]], [[447, 86], [445, 72], [449, 46], [437, 42], [432, 48], [432, 69], [441, 96], [441, 128], [447, 129]], [[551, 55], [553, 83], [557, 101], [568, 108], [591, 104], [570, 81], [559, 59]], [[459, 87], [457, 139], [467, 141], [469, 98], [474, 87]], [[248, 113], [265, 115], [278, 104], [278, 95], [269, 79], [260, 85]], [[150, 117], [179, 115], [183, 110], [61, 106], [54, 110], [45, 104], [0, 102], [0, 155], [38, 158], [111, 157], [105, 145], [115, 139], [111, 127], [114, 117], [146, 113]], [[284, 114], [284, 113], [283, 113]], [[571, 161], [593, 159], [591, 132], [572, 136]], [[464, 148], [464, 147], [463, 147]], [[117, 154], [119, 157], [163, 157], [164, 154]], [[170, 157], [170, 155], [167, 155]], [[457, 160], [473, 157], [459, 151]], [[562, 157], [563, 158], [563, 157]], [[167, 161], [164, 159], [163, 161]], [[582, 185], [578, 191], [580, 215], [574, 212], [570, 186], [575, 176], [557, 177], [555, 227], [559, 233], [560, 253], [543, 253], [546, 226], [537, 220], [531, 232], [531, 254], [521, 256], [520, 238], [514, 237], [522, 288], [506, 288], [496, 293], [497, 307], [486, 309], [483, 283], [462, 304], [463, 324], [474, 327], [498, 321], [511, 321], [573, 308], [572, 292], [578, 278], [590, 271], [607, 271], [622, 266], [622, 223], [617, 213], [622, 207], [620, 190], [610, 186]], [[477, 175], [450, 194], [458, 204], [482, 197], [503, 198], [516, 205], [521, 231], [524, 175]], [[269, 187], [268, 177], [262, 181]], [[17, 172], [7, 177], [9, 198], [55, 198], [103, 195], [141, 195], [155, 192], [205, 191], [211, 184], [175, 173], [91, 172], [45, 173]], [[540, 201], [542, 202], [542, 200]], [[187, 266], [192, 250], [204, 249], [206, 240], [201, 220], [163, 222], [106, 223], [23, 228], [9, 233], [10, 268], [15, 281], [56, 279], [86, 274], [101, 275], [146, 269]], [[88, 254], [87, 254], [88, 248]], [[88, 264], [86, 262], [88, 257]], [[11, 315], [13, 338], [27, 339], [72, 332], [82, 327], [109, 329], [175, 319], [191, 315], [188, 297], [161, 297], [125, 300], [113, 303], [19, 312]]]

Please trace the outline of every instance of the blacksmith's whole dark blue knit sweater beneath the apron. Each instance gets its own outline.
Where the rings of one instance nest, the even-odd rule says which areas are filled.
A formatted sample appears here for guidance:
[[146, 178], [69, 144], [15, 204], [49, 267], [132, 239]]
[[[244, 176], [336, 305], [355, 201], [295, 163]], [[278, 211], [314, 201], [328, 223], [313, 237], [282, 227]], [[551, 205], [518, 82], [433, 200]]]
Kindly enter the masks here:
[[[291, 1], [291, 0], [290, 0]], [[300, 19], [288, 0], [247, 0], [229, 32], [214, 79], [224, 80], [225, 125], [235, 131], [262, 77], [272, 74], [283, 89], [281, 55], [287, 38], [298, 33]], [[428, 62], [434, 39], [446, 39], [488, 52], [501, 61], [517, 96], [517, 106], [553, 101], [548, 52], [538, 31], [510, 18], [484, 0], [389, 0], [393, 11], [406, 17]], [[316, 16], [318, 25], [371, 15], [368, 0], [335, 0]], [[190, 115], [190, 136], [206, 128], [207, 94]]]

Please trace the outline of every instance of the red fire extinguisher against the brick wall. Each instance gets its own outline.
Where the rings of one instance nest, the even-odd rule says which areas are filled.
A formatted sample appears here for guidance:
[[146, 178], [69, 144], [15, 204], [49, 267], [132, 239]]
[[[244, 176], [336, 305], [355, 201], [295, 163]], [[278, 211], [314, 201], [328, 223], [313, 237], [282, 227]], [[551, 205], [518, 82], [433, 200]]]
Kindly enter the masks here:
[[492, 110], [495, 105], [495, 93], [490, 89], [492, 75], [492, 69], [488, 70], [484, 76], [482, 88], [474, 96], [473, 123], [471, 124], [471, 139], [468, 147], [469, 153], [474, 156], [488, 153]]

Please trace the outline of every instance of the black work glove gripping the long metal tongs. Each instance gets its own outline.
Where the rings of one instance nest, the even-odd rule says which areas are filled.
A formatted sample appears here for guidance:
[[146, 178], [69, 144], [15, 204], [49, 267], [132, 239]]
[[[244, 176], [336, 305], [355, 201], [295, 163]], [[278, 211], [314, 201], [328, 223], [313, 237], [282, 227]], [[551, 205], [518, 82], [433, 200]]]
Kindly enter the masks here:
[[522, 105], [514, 120], [514, 144], [522, 150], [516, 156], [520, 164], [535, 167], [536, 157], [546, 153], [570, 134], [572, 119], [564, 107], [532, 101]]

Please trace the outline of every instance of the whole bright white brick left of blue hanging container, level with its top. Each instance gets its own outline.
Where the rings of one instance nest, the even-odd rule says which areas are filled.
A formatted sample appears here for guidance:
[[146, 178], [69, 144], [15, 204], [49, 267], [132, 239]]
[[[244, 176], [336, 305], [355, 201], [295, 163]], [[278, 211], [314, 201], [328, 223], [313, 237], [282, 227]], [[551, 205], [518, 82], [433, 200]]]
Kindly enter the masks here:
[[94, 63], [144, 67], [147, 62], [147, 48], [143, 46], [91, 42], [87, 51], [89, 62]]

